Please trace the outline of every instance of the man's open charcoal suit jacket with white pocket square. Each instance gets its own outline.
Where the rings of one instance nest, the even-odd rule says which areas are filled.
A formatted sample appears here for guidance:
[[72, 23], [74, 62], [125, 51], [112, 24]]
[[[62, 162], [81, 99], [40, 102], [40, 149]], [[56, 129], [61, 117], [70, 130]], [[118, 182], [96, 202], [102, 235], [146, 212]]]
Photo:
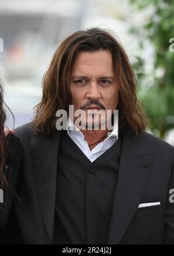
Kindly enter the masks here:
[[[39, 138], [32, 122], [15, 130], [24, 157], [14, 212], [24, 243], [51, 244], [60, 131]], [[143, 132], [124, 135], [107, 244], [174, 244], [174, 148]], [[68, 150], [68, 149], [67, 149]], [[160, 205], [138, 208], [142, 203]]]

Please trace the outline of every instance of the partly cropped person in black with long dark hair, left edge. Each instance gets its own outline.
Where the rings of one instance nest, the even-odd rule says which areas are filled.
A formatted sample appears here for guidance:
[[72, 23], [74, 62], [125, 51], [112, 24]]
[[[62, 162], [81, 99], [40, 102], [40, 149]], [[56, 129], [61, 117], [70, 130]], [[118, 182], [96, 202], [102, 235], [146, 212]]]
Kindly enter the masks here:
[[6, 121], [4, 104], [0, 80], [0, 244], [8, 243], [7, 223], [14, 196], [17, 196], [15, 193], [22, 157], [19, 138], [4, 129]]

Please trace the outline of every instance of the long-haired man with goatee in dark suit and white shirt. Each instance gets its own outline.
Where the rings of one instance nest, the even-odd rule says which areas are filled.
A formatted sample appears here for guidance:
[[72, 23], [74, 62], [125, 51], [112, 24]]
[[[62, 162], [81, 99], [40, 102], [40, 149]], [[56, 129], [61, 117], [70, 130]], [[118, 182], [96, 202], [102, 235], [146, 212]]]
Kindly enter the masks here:
[[174, 149], [146, 126], [135, 74], [111, 32], [90, 28], [64, 39], [34, 120], [14, 130], [24, 150], [15, 237], [26, 244], [174, 243]]

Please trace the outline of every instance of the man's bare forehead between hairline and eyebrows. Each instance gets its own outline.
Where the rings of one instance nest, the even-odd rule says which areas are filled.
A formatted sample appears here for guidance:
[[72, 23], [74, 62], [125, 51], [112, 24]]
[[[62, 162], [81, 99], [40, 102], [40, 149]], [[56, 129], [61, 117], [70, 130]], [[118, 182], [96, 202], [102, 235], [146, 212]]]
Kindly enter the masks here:
[[87, 73], [114, 73], [113, 56], [110, 50], [101, 50], [97, 52], [79, 52], [75, 57], [73, 74]]

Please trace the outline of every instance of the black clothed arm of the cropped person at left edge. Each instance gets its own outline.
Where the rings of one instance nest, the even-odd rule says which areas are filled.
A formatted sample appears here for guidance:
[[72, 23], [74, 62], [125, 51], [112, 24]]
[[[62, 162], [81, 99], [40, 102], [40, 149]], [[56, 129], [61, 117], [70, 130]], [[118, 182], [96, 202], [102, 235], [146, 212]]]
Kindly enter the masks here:
[[6, 229], [10, 215], [10, 210], [14, 200], [14, 194], [16, 193], [17, 183], [19, 180], [19, 171], [22, 158], [22, 146], [19, 138], [14, 135], [9, 135], [6, 138], [9, 148], [11, 150], [12, 157], [8, 161], [11, 162], [12, 169], [6, 170], [6, 178], [9, 179], [9, 186], [7, 188], [1, 188], [3, 190], [3, 203], [0, 203], [0, 244], [7, 243]]

